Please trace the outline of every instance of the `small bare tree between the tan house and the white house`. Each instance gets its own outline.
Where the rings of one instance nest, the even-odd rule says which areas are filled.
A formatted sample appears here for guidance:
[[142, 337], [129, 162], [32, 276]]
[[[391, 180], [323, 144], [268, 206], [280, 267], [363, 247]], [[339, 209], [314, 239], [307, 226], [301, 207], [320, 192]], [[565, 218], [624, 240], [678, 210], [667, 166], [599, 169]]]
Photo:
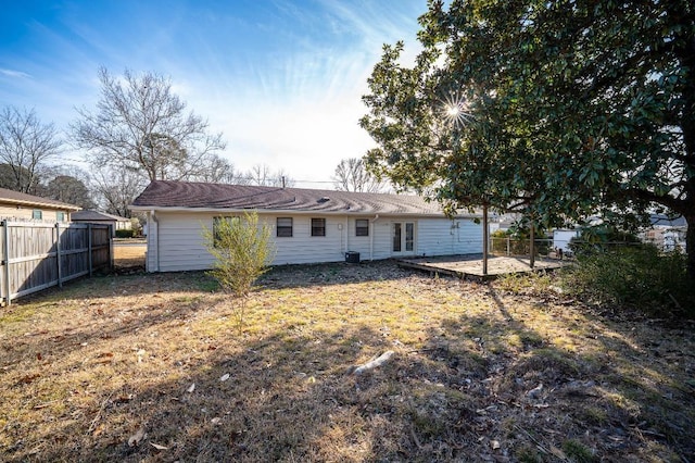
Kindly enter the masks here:
[[91, 177], [91, 186], [98, 195], [100, 208], [122, 217], [130, 217], [128, 207], [146, 185], [147, 179], [142, 175], [126, 168], [112, 170], [105, 166], [96, 170]]

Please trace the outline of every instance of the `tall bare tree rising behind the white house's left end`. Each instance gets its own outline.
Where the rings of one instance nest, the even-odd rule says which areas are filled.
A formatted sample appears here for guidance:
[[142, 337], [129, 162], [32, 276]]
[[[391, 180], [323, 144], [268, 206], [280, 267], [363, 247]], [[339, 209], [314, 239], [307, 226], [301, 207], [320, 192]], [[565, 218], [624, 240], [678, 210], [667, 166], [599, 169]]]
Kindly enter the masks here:
[[202, 117], [186, 112], [186, 103], [168, 79], [126, 70], [123, 78], [99, 70], [101, 98], [97, 112], [78, 109], [71, 125], [78, 148], [94, 165], [142, 173], [150, 180], [186, 179], [207, 159], [224, 150], [222, 134], [210, 135]]

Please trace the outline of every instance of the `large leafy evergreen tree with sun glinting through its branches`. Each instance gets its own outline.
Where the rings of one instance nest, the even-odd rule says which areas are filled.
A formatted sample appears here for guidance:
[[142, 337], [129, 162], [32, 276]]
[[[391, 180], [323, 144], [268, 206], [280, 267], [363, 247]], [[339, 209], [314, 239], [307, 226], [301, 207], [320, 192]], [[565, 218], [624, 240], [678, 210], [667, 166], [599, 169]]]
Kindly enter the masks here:
[[546, 225], [668, 210], [695, 278], [693, 2], [430, 1], [420, 24], [415, 64], [384, 46], [369, 79], [371, 170]]

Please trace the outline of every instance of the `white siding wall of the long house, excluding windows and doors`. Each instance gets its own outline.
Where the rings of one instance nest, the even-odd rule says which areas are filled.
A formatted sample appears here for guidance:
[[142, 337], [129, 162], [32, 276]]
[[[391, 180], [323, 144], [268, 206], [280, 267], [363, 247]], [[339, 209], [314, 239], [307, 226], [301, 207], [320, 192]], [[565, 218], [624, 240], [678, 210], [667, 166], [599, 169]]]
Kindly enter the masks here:
[[[213, 256], [202, 237], [203, 225], [212, 228], [213, 212], [161, 212], [148, 217], [148, 272], [207, 270]], [[238, 214], [237, 214], [238, 215]], [[292, 216], [292, 237], [277, 237], [278, 217]], [[393, 218], [340, 215], [258, 214], [269, 224], [277, 253], [274, 265], [317, 262], [342, 262], [345, 252], [359, 252], [362, 260], [388, 259], [391, 252], [391, 227], [394, 222], [415, 223], [415, 249], [400, 255], [446, 255], [482, 252], [482, 225], [472, 220], [456, 220], [452, 228], [447, 218]], [[311, 236], [312, 218], [326, 218], [326, 236]], [[355, 236], [356, 218], [369, 221], [369, 236]], [[157, 255], [159, 251], [159, 255]]]

